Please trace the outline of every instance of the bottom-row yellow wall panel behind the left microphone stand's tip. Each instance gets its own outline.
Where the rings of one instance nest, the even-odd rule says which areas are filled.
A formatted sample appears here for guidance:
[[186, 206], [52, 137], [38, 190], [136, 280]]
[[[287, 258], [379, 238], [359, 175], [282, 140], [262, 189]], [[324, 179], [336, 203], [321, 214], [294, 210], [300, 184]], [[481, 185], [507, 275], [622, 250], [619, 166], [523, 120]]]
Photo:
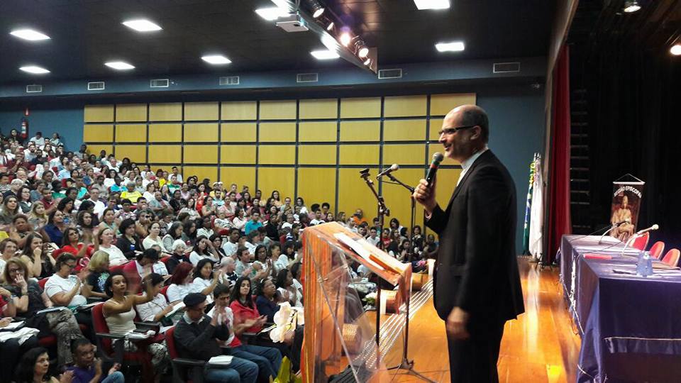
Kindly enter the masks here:
[[[370, 168], [371, 174], [375, 177], [376, 168]], [[367, 221], [371, 224], [372, 218], [376, 216], [376, 199], [364, 182], [360, 178], [358, 169], [338, 170], [338, 211], [345, 212], [345, 216], [355, 213], [355, 209], [362, 209]]]

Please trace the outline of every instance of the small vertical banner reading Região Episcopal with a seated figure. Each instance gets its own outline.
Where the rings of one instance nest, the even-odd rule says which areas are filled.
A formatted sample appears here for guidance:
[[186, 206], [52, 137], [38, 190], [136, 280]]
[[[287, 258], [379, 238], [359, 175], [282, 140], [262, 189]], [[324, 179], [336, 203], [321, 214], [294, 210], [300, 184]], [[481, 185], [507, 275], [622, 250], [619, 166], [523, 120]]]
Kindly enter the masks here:
[[[635, 179], [634, 181], [621, 181], [626, 176]], [[613, 229], [610, 235], [621, 241], [629, 240], [629, 237], [636, 233], [638, 227], [638, 213], [641, 209], [641, 196], [643, 196], [643, 185], [641, 181], [631, 174], [620, 177], [613, 183], [612, 206], [610, 211], [610, 223], [615, 225], [622, 221], [619, 227]]]

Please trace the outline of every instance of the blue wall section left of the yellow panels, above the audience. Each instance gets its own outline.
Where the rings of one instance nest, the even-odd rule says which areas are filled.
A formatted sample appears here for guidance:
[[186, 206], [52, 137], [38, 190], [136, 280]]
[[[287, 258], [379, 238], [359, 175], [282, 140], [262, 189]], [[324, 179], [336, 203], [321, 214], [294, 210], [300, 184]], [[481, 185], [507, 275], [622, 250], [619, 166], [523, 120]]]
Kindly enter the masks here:
[[[0, 111], [0, 131], [4, 135], [16, 128], [21, 129], [23, 108]], [[33, 137], [35, 132], [43, 132], [46, 138], [52, 138], [52, 133], [59, 133], [66, 150], [75, 151], [83, 142], [83, 108], [69, 109], [38, 109], [30, 110], [28, 116], [28, 135]]]

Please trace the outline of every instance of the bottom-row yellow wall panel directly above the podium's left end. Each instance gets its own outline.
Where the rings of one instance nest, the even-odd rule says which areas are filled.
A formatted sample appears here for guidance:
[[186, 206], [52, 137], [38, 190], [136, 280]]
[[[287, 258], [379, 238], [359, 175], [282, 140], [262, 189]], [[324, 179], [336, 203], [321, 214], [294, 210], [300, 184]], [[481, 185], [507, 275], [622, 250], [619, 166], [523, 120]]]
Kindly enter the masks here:
[[[323, 180], [323, 182], [320, 182]], [[336, 201], [335, 167], [301, 167], [298, 169], [298, 196], [303, 197], [306, 206]]]

